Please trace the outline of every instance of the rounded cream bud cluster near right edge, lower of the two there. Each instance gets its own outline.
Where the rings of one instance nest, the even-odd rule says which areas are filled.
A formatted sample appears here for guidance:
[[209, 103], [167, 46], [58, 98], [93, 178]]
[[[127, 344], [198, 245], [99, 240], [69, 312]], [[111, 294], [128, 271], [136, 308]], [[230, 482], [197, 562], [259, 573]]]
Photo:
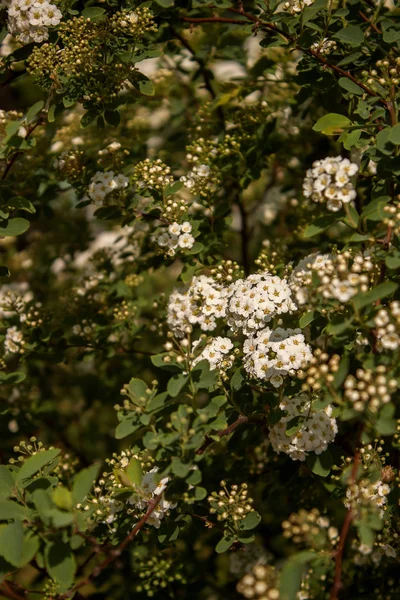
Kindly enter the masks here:
[[379, 365], [375, 371], [357, 369], [355, 376], [346, 378], [344, 390], [344, 396], [353, 403], [354, 410], [368, 409], [376, 413], [383, 404], [390, 402], [397, 390], [397, 381], [389, 378], [384, 365]]

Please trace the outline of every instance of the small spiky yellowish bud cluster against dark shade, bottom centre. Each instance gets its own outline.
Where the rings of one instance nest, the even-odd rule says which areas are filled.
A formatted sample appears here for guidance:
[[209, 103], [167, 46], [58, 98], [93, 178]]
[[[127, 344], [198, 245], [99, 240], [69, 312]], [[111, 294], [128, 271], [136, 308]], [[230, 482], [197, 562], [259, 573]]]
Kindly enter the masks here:
[[221, 481], [221, 490], [212, 492], [208, 497], [210, 514], [218, 521], [224, 521], [226, 529], [237, 531], [240, 522], [253, 509], [253, 499], [249, 498], [247, 483], [232, 485], [230, 490], [225, 481]]

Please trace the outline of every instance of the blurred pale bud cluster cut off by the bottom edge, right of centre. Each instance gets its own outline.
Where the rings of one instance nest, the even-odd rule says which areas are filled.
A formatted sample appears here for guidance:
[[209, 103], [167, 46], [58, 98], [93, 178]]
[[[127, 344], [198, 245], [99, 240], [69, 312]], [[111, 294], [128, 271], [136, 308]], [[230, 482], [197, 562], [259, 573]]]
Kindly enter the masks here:
[[255, 600], [279, 600], [279, 575], [270, 565], [254, 565], [236, 586], [239, 594]]

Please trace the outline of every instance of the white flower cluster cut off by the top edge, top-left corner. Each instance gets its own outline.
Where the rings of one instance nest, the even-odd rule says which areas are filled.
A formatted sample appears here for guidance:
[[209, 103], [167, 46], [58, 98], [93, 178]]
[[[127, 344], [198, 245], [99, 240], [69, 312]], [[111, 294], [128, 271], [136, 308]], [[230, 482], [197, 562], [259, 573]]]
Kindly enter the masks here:
[[48, 27], [61, 19], [61, 11], [48, 0], [11, 0], [8, 7], [8, 31], [23, 44], [47, 40]]

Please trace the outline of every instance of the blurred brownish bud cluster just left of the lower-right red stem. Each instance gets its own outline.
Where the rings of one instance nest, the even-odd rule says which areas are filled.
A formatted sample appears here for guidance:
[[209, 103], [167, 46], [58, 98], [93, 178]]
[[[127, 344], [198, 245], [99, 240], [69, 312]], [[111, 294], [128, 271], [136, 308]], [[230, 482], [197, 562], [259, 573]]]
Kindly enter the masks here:
[[334, 546], [339, 541], [339, 531], [317, 508], [310, 511], [302, 508], [291, 514], [287, 521], [283, 521], [282, 528], [284, 538], [315, 550], [326, 548], [327, 545]]

